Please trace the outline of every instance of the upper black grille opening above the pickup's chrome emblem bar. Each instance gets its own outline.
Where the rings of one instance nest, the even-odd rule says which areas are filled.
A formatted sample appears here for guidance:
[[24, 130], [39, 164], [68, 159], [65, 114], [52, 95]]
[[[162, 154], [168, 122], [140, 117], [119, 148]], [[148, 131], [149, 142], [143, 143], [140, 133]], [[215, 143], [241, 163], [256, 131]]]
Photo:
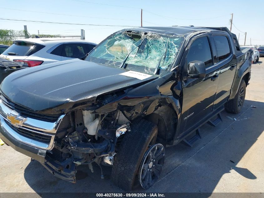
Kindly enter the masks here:
[[22, 116], [25, 116], [25, 117], [35, 118], [35, 119], [47, 121], [47, 122], [55, 122], [59, 118], [59, 115], [54, 115], [54, 116], [45, 115], [45, 114], [38, 114], [36, 112], [30, 111], [29, 109], [26, 109], [18, 104], [11, 102], [9, 99], [4, 97], [3, 95], [0, 96], [0, 99], [2, 99], [3, 104], [5, 104], [7, 107], [17, 111], [18, 113], [20, 113]]

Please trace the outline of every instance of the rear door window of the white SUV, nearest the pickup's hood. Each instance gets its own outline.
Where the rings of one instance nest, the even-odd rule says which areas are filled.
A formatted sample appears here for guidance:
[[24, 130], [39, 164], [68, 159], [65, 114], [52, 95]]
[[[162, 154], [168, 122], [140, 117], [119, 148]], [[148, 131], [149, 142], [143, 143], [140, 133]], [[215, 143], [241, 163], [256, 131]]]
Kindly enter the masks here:
[[83, 43], [64, 43], [62, 56], [68, 58], [82, 58], [87, 54], [87, 49]]

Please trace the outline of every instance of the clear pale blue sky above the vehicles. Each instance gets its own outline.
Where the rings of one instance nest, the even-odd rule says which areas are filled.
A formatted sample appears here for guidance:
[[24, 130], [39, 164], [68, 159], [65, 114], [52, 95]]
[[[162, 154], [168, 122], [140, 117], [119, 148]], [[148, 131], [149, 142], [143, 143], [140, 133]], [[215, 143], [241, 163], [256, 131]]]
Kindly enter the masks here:
[[[90, 2], [90, 3], [89, 3]], [[263, 8], [264, 1], [107, 1], [107, 0], [45, 0], [38, 3], [33, 0], [2, 0], [0, 18], [35, 20], [61, 23], [82, 23], [99, 25], [140, 26], [141, 8], [143, 9], [143, 26], [226, 26], [230, 28], [229, 19], [233, 13], [232, 33], [246, 44], [264, 45]], [[108, 4], [108, 5], [103, 5]], [[8, 8], [8, 9], [7, 9]], [[16, 10], [14, 10], [16, 9]], [[54, 13], [54, 14], [47, 14]], [[66, 16], [74, 15], [74, 16]], [[85, 30], [86, 40], [99, 43], [113, 32], [125, 27], [61, 25], [32, 22], [15, 22], [0, 20], [1, 29], [22, 30], [27, 25], [31, 34], [40, 33], [80, 35]]]

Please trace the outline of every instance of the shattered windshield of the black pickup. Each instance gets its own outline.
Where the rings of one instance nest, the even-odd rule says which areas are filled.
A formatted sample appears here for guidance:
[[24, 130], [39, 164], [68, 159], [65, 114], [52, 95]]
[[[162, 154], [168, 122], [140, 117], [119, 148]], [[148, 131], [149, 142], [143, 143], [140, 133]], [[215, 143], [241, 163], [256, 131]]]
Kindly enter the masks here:
[[182, 36], [119, 32], [99, 44], [87, 61], [145, 74], [169, 71], [184, 41]]

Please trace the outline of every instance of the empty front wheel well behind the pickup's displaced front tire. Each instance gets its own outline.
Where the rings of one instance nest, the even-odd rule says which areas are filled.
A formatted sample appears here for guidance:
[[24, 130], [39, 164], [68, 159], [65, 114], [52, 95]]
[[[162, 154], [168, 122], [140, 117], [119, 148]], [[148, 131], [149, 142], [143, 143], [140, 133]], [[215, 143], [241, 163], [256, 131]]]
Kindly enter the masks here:
[[169, 106], [161, 106], [144, 119], [158, 126], [157, 142], [169, 142], [173, 140], [177, 127], [177, 114]]

